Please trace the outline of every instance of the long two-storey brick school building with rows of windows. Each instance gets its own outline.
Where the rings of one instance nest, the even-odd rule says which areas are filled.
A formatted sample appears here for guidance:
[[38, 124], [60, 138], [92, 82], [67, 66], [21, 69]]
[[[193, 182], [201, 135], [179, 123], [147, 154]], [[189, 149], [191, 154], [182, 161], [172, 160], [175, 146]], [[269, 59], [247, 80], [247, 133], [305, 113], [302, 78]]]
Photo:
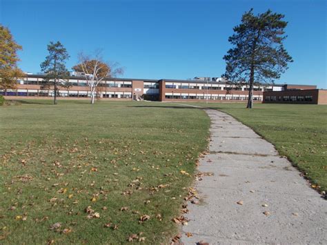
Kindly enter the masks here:
[[[26, 75], [17, 81], [17, 88], [0, 90], [0, 95], [7, 99], [53, 97], [53, 88], [43, 88], [41, 81], [44, 75]], [[72, 76], [68, 80], [70, 86], [59, 86], [59, 98], [79, 99], [90, 97], [89, 87], [84, 77]], [[273, 103], [281, 92], [293, 90], [315, 90], [316, 86], [291, 84], [257, 84], [254, 86], [253, 99], [257, 102]], [[97, 86], [97, 98], [103, 100], [157, 100], [157, 101], [246, 101], [248, 84], [229, 84], [226, 81], [172, 80], [172, 79], [123, 79], [108, 78]], [[325, 91], [326, 92], [326, 91]], [[319, 92], [318, 92], [319, 94]], [[321, 93], [324, 94], [324, 91]], [[324, 94], [326, 96], [326, 93]], [[295, 95], [285, 95], [295, 96]], [[302, 95], [299, 95], [302, 96]], [[304, 95], [305, 97], [306, 95]], [[315, 95], [310, 95], [316, 101]], [[276, 100], [275, 100], [276, 97]], [[322, 96], [324, 97], [324, 96]], [[317, 101], [324, 101], [319, 94]], [[292, 97], [293, 98], [293, 97]], [[301, 98], [301, 97], [299, 97]], [[308, 101], [308, 100], [304, 100]], [[279, 102], [281, 103], [281, 102]]]

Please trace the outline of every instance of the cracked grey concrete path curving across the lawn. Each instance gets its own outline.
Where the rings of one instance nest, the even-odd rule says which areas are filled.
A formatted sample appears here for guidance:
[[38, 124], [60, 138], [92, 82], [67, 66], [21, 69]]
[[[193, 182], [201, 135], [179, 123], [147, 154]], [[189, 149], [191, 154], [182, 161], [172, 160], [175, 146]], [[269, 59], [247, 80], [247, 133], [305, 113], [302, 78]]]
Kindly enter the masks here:
[[181, 242], [327, 244], [327, 201], [272, 144], [223, 112], [206, 112], [210, 154], [199, 171], [214, 175], [196, 182], [201, 202], [188, 204]]

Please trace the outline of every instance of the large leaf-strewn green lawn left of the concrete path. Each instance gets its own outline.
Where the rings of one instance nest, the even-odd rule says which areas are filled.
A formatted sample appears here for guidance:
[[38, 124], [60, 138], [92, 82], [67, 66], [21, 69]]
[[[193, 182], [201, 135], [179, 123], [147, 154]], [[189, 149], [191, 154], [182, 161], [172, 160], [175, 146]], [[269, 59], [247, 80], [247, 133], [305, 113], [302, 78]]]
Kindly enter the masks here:
[[0, 107], [0, 243], [168, 243], [207, 145], [205, 112], [51, 103]]

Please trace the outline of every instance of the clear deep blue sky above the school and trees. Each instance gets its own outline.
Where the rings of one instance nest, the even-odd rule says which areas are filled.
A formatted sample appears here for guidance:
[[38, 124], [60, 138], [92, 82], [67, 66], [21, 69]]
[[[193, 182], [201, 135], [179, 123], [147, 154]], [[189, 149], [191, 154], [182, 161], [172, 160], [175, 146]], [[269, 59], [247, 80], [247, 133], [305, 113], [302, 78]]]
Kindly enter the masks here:
[[276, 82], [327, 88], [326, 0], [0, 0], [0, 22], [23, 46], [19, 66], [27, 72], [39, 72], [49, 41], [61, 41], [69, 69], [78, 52], [102, 48], [123, 77], [188, 79], [224, 73], [228, 37], [250, 8], [288, 21], [294, 62]]

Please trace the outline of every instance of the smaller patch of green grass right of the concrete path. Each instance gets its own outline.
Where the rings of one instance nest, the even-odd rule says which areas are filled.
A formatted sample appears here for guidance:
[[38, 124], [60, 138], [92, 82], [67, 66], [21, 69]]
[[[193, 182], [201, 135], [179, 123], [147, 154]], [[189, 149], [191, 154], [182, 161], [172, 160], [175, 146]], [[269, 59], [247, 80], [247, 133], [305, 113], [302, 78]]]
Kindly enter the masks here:
[[208, 107], [253, 128], [306, 173], [314, 188], [327, 192], [327, 106], [255, 104], [248, 110], [245, 104], [210, 103]]

